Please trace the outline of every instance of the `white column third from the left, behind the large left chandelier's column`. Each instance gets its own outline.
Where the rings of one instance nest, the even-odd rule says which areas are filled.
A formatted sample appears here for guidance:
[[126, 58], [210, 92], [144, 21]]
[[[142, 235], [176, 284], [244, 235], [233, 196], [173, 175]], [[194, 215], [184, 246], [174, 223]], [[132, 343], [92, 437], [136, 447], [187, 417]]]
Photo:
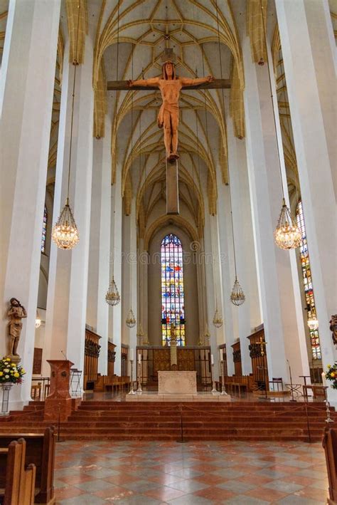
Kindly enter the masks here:
[[87, 324], [100, 335], [98, 372], [107, 375], [109, 306], [105, 301], [109, 282], [111, 218], [111, 123], [105, 137], [94, 139], [90, 219], [90, 254], [87, 288]]

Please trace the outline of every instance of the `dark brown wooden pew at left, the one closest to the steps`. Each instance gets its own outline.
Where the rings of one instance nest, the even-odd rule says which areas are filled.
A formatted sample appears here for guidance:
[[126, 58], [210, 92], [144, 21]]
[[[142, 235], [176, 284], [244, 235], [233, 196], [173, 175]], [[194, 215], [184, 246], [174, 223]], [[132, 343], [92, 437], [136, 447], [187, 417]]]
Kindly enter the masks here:
[[[53, 505], [55, 440], [54, 427], [46, 428], [44, 434], [0, 434], [0, 447], [6, 448], [12, 440], [26, 439], [26, 465], [36, 465], [36, 504]], [[4, 488], [5, 478], [0, 473], [0, 488]]]

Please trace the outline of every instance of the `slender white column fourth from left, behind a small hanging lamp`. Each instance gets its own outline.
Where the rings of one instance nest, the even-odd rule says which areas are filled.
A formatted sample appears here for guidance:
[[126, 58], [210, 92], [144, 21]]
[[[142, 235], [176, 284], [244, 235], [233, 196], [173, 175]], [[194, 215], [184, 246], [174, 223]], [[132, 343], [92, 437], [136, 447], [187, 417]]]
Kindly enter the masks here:
[[[121, 299], [122, 293], [122, 168], [117, 165], [116, 182], [112, 187], [112, 236], [110, 247], [110, 277], [114, 274], [114, 280]], [[112, 342], [116, 345], [116, 359], [114, 361], [114, 373], [121, 375], [121, 343], [122, 343], [122, 301], [109, 309]]]

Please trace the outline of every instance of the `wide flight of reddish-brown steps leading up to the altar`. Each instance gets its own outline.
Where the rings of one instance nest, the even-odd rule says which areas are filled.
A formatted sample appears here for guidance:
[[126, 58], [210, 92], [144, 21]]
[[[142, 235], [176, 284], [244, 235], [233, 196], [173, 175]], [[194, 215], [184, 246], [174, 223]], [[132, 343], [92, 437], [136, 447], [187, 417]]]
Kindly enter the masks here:
[[[306, 409], [308, 415], [306, 416]], [[337, 422], [336, 412], [331, 417]], [[323, 402], [115, 402], [83, 401], [67, 422], [63, 439], [83, 440], [321, 440]], [[56, 424], [56, 423], [54, 423]], [[43, 432], [43, 402], [0, 420], [0, 432]], [[308, 429], [309, 425], [309, 429]]]

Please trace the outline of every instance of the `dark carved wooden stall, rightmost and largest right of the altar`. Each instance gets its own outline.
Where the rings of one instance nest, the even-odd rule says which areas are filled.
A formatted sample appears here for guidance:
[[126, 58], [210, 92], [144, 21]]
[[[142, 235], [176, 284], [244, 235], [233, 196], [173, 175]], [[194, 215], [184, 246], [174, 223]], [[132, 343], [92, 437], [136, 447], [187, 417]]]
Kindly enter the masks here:
[[261, 328], [249, 337], [250, 358], [252, 360], [252, 375], [259, 390], [269, 390], [268, 364], [264, 329]]

